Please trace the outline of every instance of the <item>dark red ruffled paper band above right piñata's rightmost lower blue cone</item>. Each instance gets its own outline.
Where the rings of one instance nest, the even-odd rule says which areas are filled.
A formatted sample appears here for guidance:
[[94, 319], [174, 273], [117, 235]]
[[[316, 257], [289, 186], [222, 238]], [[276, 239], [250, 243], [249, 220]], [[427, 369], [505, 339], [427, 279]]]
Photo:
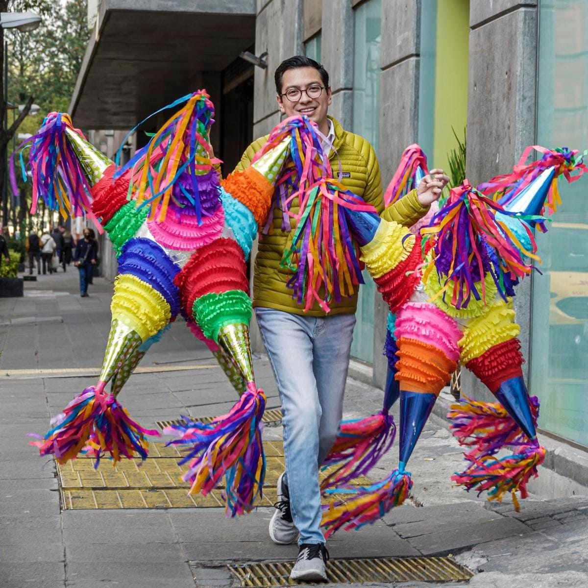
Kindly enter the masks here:
[[513, 338], [494, 345], [479, 357], [470, 360], [466, 363], [466, 368], [494, 393], [502, 382], [522, 376], [520, 366], [523, 363], [520, 341]]

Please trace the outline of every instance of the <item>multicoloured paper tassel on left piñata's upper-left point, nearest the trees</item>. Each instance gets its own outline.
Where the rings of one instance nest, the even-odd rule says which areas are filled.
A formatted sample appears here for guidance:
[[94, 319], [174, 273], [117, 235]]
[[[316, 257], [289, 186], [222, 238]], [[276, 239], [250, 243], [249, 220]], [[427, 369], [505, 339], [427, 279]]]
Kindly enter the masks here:
[[[47, 208], [58, 210], [61, 217], [87, 215], [99, 233], [102, 227], [92, 212], [90, 186], [83, 173], [78, 156], [68, 141], [65, 129], [85, 139], [82, 131], [74, 128], [71, 117], [65, 112], [50, 112], [41, 128], [19, 146], [23, 181], [28, 181], [22, 148], [30, 145], [29, 166], [32, 173], [31, 214], [35, 214], [41, 198]], [[14, 160], [13, 160], [14, 161]], [[14, 187], [13, 187], [14, 188]]]

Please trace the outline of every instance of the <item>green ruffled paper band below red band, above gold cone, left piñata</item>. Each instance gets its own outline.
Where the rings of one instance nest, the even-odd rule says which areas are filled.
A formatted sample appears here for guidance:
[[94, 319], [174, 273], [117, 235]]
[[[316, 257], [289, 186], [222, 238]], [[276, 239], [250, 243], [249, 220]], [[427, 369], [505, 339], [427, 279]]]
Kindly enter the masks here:
[[242, 290], [228, 290], [221, 294], [211, 292], [195, 300], [192, 316], [206, 339], [218, 343], [219, 330], [223, 327], [239, 323], [249, 325], [251, 299]]

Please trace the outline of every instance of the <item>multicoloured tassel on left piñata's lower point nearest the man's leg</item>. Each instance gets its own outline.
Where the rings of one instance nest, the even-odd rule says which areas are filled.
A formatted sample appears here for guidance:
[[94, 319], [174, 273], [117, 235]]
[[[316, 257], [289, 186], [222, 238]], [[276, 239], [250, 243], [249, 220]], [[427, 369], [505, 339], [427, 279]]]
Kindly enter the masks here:
[[191, 446], [180, 465], [188, 464], [183, 476], [192, 482], [191, 493], [206, 496], [226, 477], [226, 512], [229, 516], [249, 512], [262, 496], [265, 456], [261, 439], [266, 397], [263, 390], [250, 385], [226, 415], [212, 423], [195, 422], [186, 417], [185, 425], [163, 430], [174, 435], [168, 445]]

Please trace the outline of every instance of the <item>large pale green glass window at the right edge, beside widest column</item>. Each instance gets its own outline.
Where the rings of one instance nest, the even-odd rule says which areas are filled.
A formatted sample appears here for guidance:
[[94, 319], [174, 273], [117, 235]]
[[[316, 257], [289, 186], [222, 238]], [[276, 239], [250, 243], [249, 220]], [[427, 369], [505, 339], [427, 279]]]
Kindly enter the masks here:
[[[588, 147], [588, 0], [540, 2], [537, 142]], [[588, 445], [588, 184], [559, 181], [563, 204], [536, 232], [530, 393], [539, 426]]]

